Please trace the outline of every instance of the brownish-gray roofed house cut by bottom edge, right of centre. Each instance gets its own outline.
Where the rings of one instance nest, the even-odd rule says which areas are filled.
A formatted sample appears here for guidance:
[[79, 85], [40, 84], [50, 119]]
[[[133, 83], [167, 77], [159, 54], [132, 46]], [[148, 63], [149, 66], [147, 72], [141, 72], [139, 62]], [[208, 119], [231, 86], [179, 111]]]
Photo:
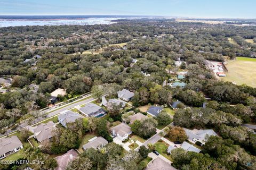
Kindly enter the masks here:
[[148, 164], [145, 170], [177, 170], [171, 164], [165, 162], [162, 158], [157, 157]]

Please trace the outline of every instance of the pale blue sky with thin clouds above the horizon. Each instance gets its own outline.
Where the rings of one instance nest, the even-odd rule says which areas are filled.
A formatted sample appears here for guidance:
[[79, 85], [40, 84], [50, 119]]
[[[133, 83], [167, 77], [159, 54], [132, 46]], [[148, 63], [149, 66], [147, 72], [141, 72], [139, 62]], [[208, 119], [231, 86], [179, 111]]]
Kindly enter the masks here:
[[0, 15], [256, 18], [255, 0], [0, 0]]

